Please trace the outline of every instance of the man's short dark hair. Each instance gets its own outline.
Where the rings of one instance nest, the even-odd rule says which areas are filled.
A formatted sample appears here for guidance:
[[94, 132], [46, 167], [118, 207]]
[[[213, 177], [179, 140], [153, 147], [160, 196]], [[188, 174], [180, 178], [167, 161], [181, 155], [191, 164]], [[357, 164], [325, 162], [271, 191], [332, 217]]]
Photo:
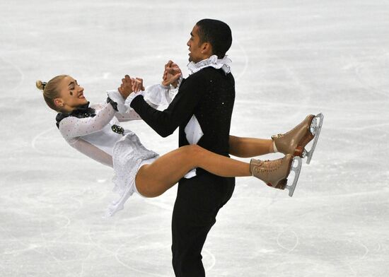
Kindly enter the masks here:
[[223, 59], [232, 44], [230, 27], [223, 21], [208, 18], [199, 20], [196, 25], [199, 27], [200, 43], [209, 42], [213, 54]]

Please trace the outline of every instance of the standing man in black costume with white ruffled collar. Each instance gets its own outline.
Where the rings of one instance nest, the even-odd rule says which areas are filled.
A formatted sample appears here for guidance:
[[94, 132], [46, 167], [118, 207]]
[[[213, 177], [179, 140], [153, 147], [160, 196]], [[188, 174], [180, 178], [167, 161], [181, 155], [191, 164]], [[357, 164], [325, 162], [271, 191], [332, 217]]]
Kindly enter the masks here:
[[[158, 111], [143, 96], [132, 95], [131, 107], [163, 137], [179, 127], [179, 146], [197, 143], [228, 156], [235, 100], [235, 81], [228, 66], [231, 61], [226, 57], [231, 43], [231, 29], [226, 23], [200, 20], [187, 42], [192, 74], [182, 79], [173, 102], [166, 110]], [[202, 247], [234, 187], [235, 178], [218, 177], [200, 168], [180, 180], [172, 219], [175, 276], [205, 276]]]

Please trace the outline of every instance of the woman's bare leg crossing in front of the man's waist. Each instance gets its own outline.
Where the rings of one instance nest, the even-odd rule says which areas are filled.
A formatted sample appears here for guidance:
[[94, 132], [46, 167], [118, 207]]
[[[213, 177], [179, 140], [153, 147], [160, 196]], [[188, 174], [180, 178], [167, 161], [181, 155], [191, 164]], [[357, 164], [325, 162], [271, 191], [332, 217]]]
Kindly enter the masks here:
[[201, 167], [223, 177], [251, 176], [250, 164], [218, 155], [197, 146], [182, 146], [142, 166], [135, 179], [140, 194], [156, 197], [173, 187], [187, 172]]

